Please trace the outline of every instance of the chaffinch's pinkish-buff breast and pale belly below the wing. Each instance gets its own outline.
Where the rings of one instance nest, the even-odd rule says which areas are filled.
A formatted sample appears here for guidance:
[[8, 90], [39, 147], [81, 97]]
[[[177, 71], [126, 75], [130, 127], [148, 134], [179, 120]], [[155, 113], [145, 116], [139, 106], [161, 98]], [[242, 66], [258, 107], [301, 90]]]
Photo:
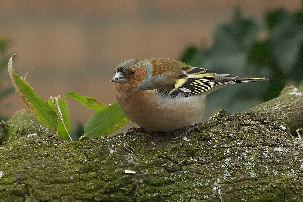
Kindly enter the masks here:
[[169, 132], [188, 125], [201, 123], [205, 94], [190, 97], [171, 97], [157, 94], [156, 90], [139, 90], [128, 99], [119, 99], [125, 115], [149, 131]]

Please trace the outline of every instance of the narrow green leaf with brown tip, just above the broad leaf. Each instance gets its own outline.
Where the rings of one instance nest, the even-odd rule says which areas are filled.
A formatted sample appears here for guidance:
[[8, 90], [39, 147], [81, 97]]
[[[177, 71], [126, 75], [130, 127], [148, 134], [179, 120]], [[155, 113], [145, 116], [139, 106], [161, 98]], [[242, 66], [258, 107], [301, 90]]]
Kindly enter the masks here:
[[64, 96], [62, 96], [63, 98], [72, 98], [78, 102], [80, 102], [81, 104], [83, 104], [85, 107], [88, 107], [90, 109], [93, 109], [95, 111], [99, 111], [104, 109], [106, 106], [108, 106], [107, 104], [104, 104], [101, 101], [98, 101], [95, 98], [90, 98], [87, 96], [83, 96], [83, 95], [79, 95], [75, 92], [68, 92], [66, 93]]

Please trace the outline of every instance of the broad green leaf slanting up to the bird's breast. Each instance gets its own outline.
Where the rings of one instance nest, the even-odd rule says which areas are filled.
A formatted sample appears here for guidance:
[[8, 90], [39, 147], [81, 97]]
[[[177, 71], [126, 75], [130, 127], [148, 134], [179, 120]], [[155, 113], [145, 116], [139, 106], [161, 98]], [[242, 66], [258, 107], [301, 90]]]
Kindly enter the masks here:
[[84, 126], [83, 137], [99, 137], [102, 135], [109, 135], [118, 130], [130, 120], [123, 113], [118, 102], [105, 107], [96, 112], [88, 119]]

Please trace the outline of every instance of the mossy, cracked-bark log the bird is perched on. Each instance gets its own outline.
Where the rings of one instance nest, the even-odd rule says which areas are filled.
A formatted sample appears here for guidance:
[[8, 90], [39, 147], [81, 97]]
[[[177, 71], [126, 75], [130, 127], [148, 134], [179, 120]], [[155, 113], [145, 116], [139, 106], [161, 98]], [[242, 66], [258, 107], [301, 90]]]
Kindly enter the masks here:
[[68, 142], [19, 111], [2, 123], [0, 201], [302, 201], [303, 141], [269, 107], [301, 100], [294, 106], [302, 113], [303, 96], [291, 92], [263, 111], [221, 112], [195, 126], [189, 141], [143, 132]]

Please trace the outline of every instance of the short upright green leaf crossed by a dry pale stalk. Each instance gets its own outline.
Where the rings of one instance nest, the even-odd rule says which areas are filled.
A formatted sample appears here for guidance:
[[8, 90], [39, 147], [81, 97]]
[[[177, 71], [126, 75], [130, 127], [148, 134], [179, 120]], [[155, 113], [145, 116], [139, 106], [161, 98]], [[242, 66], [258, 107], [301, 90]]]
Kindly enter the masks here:
[[[56, 98], [54, 98], [56, 99]], [[56, 111], [58, 111], [59, 117], [62, 117], [63, 122], [61, 120], [61, 118], [59, 118], [59, 123], [58, 123], [58, 127], [57, 127], [57, 132], [58, 135], [66, 140], [71, 140], [72, 138], [70, 137], [69, 134], [71, 134], [71, 117], [69, 115], [69, 110], [68, 110], [68, 105], [67, 105], [67, 101], [63, 100], [63, 99], [58, 99], [58, 109], [56, 108], [55, 104], [54, 104], [54, 100], [52, 101], [52, 98], [48, 99], [48, 104]], [[56, 103], [56, 102], [55, 102]]]

